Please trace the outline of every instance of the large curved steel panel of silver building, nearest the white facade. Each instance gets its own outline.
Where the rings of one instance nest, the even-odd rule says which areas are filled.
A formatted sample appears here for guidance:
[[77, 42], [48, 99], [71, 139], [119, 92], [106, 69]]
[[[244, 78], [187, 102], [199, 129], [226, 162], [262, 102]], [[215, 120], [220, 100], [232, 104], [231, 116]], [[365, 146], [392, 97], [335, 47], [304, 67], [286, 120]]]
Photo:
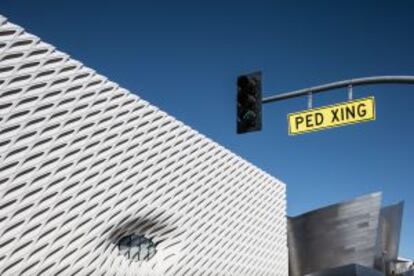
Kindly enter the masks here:
[[380, 205], [373, 193], [289, 218], [290, 275], [354, 263], [372, 268]]

